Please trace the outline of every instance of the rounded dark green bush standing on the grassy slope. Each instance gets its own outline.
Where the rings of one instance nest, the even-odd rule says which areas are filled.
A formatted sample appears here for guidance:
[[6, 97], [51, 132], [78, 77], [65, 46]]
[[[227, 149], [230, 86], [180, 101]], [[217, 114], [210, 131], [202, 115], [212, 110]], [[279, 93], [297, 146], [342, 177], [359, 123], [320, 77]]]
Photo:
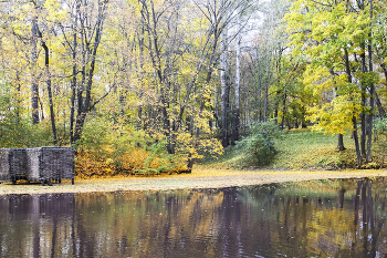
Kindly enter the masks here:
[[269, 165], [278, 153], [274, 138], [279, 135], [274, 122], [253, 123], [250, 125], [250, 135], [237, 142], [237, 148], [244, 155], [247, 165]]

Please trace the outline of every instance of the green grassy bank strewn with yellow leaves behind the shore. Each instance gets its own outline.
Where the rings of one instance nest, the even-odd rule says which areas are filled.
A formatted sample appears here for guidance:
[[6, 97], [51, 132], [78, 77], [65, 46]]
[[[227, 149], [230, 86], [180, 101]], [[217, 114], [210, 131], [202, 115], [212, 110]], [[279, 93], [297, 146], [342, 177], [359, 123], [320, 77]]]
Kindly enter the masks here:
[[[344, 135], [345, 151], [337, 149], [337, 136], [310, 130], [285, 131], [276, 140], [278, 154], [266, 167], [269, 169], [342, 169], [386, 167], [385, 153], [378, 144], [373, 146], [373, 162], [360, 167], [356, 165], [356, 153], [351, 134]], [[251, 168], [252, 165], [230, 146], [218, 159], [203, 159], [202, 165], [215, 168]]]

